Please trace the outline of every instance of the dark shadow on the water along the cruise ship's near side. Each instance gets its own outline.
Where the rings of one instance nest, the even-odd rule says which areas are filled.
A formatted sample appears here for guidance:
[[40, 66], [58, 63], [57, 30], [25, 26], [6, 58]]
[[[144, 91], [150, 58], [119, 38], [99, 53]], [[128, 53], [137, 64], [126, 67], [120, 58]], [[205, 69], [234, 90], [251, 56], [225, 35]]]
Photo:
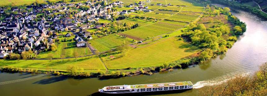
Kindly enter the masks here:
[[183, 93], [185, 91], [192, 91], [192, 89], [143, 92], [143, 93], [126, 93], [126, 94], [105, 94], [105, 93], [96, 92], [96, 93], [93, 93], [87, 96], [149, 96], [149, 95], [177, 94], [177, 93]]

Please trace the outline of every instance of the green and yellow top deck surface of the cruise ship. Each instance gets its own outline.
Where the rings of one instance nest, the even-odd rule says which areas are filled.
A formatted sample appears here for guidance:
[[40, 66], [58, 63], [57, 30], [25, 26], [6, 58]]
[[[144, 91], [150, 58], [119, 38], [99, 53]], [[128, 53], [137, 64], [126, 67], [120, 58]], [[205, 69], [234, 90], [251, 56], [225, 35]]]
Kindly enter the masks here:
[[156, 84], [141, 84], [141, 85], [131, 85], [131, 88], [153, 88], [153, 87], [170, 87], [170, 86], [182, 86], [182, 85], [192, 85], [191, 81], [184, 82], [171, 82], [171, 83], [156, 83]]

